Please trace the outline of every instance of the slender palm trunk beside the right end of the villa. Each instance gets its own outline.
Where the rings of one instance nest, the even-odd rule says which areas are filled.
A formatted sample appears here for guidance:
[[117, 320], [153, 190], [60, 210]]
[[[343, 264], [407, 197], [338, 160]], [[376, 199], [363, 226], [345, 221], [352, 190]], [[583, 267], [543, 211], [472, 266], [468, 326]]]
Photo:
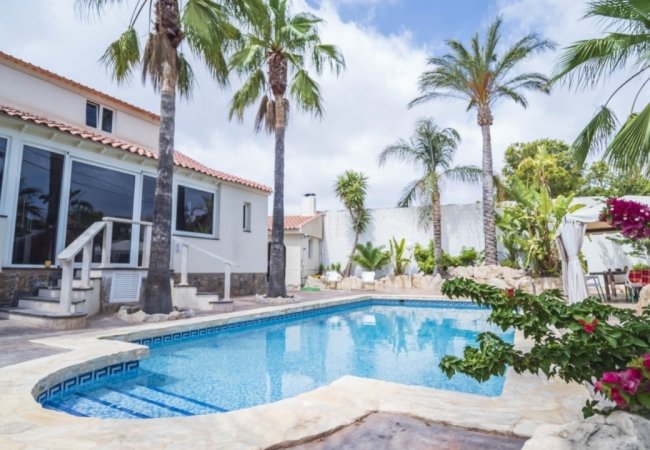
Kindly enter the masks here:
[[284, 132], [286, 127], [284, 98], [275, 96], [275, 185], [273, 193], [273, 227], [269, 267], [269, 297], [286, 297], [284, 248]]

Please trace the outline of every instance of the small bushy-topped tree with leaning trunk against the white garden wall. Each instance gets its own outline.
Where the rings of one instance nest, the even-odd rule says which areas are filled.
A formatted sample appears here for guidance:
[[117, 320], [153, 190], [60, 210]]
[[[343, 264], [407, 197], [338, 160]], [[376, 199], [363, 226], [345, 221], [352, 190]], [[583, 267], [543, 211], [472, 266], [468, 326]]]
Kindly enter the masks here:
[[343, 270], [343, 275], [350, 276], [354, 252], [359, 243], [359, 235], [363, 233], [370, 223], [370, 213], [366, 209], [366, 191], [368, 190], [368, 177], [363, 172], [346, 170], [336, 177], [334, 192], [343, 202], [345, 209], [350, 214], [350, 223], [354, 231], [354, 243], [348, 257], [348, 262]]

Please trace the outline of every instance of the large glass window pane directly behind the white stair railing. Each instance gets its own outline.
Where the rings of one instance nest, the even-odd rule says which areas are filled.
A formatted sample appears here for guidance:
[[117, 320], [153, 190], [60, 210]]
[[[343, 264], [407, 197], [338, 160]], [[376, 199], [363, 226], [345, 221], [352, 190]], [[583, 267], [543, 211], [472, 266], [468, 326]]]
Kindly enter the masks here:
[[[72, 163], [66, 245], [103, 217], [133, 217], [135, 176], [104, 167]], [[101, 261], [103, 234], [93, 243], [93, 261]], [[113, 224], [111, 262], [129, 263], [131, 224]]]

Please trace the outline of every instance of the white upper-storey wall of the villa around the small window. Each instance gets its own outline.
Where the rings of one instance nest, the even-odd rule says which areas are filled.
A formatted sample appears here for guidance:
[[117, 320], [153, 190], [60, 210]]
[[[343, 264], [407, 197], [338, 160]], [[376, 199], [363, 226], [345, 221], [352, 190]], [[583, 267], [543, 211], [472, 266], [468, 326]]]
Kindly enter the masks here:
[[80, 128], [86, 127], [86, 100], [113, 110], [113, 131], [88, 128], [151, 149], [158, 148], [158, 124], [99, 96], [76, 92], [0, 62], [0, 103]]

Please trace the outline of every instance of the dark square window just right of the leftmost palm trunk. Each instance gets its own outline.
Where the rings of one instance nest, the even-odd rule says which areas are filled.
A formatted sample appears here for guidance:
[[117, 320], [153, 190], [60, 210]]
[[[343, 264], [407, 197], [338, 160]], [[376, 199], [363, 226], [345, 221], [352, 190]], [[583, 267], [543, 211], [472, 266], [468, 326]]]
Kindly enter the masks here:
[[214, 235], [214, 193], [178, 186], [176, 231]]

